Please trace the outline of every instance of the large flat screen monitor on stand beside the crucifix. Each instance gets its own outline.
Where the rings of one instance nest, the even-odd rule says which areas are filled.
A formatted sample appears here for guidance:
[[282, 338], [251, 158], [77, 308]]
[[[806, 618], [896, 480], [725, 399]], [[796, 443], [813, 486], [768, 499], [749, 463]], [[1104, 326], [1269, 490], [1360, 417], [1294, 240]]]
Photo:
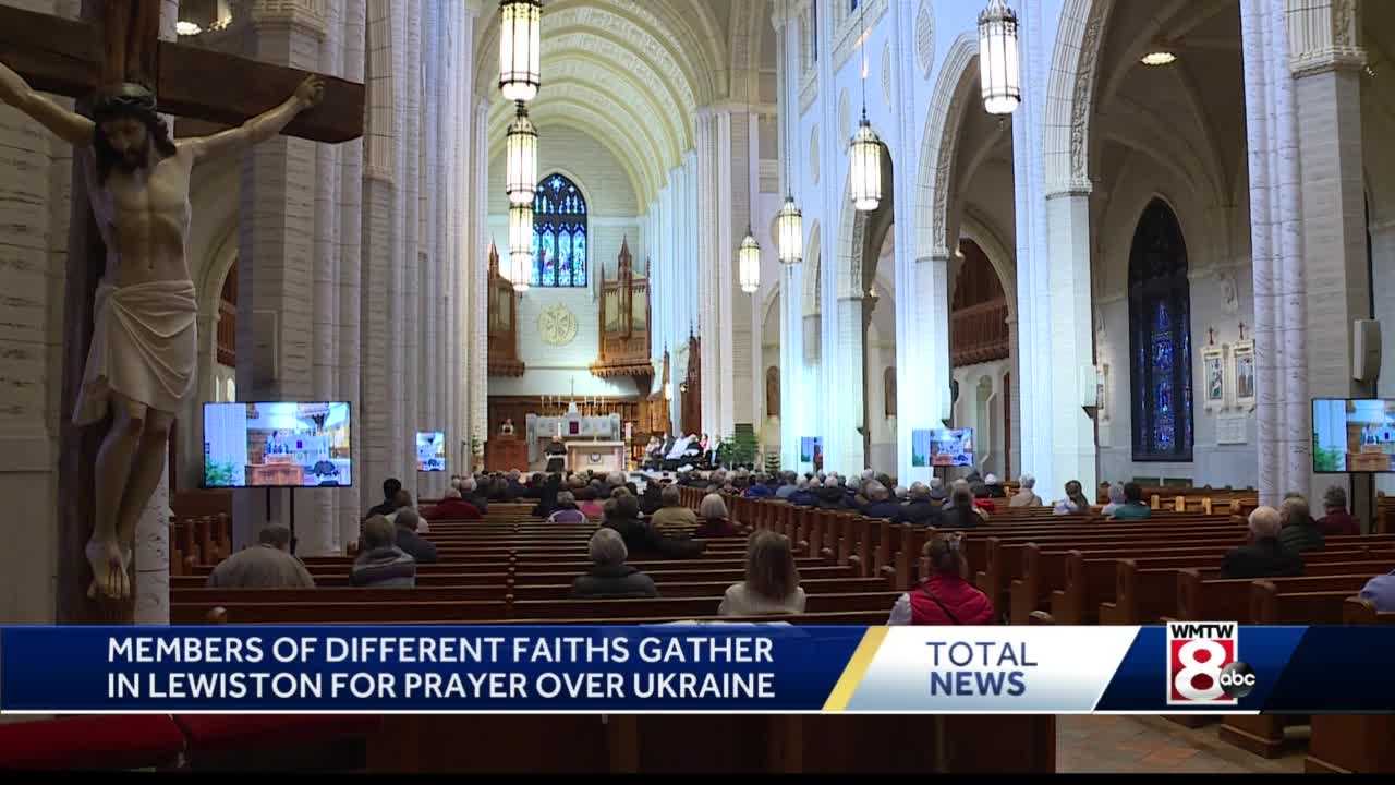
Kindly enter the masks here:
[[347, 402], [204, 404], [204, 487], [349, 487]]

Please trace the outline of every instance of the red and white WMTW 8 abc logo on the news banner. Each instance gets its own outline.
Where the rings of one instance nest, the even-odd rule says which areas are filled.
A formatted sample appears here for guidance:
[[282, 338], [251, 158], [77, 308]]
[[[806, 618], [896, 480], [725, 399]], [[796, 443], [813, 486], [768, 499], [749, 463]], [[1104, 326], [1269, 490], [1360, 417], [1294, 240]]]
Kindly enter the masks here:
[[1168, 704], [1235, 705], [1254, 690], [1235, 622], [1168, 624]]

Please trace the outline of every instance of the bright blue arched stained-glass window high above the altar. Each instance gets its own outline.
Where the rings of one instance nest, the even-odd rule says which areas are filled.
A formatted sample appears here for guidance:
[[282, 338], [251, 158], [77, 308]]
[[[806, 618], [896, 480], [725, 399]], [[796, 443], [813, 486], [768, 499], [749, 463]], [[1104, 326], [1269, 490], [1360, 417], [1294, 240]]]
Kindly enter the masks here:
[[586, 197], [564, 175], [548, 175], [533, 196], [533, 286], [586, 285]]

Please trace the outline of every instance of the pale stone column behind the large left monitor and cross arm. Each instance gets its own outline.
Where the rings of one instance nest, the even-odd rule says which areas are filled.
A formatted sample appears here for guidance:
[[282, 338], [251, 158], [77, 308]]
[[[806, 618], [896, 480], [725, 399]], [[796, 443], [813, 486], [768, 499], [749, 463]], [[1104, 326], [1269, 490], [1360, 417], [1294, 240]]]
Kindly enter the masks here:
[[[257, 0], [246, 7], [244, 54], [304, 70], [321, 67], [325, 17], [310, 3]], [[314, 324], [317, 303], [317, 200], [314, 142], [278, 137], [243, 155], [239, 219], [237, 397], [244, 401], [314, 398]], [[234, 494], [234, 546], [255, 539], [269, 517], [289, 524], [297, 504], [299, 553], [333, 550], [335, 522], [311, 493]]]

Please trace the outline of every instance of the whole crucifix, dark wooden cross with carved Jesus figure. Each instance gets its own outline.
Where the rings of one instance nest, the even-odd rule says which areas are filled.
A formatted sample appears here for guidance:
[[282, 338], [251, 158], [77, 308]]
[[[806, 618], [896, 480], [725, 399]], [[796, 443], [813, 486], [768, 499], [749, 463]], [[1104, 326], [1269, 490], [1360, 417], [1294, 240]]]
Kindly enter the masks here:
[[[0, 7], [0, 102], [77, 152], [61, 409], [73, 416], [59, 472], [63, 622], [130, 619], [135, 521], [195, 381], [198, 305], [184, 256], [194, 165], [279, 133], [363, 135], [363, 85], [159, 41], [159, 8], [84, 0], [84, 21], [71, 21]], [[78, 98], [81, 113], [40, 91]], [[233, 127], [174, 141], [156, 112]], [[103, 423], [105, 434], [88, 427]]]

